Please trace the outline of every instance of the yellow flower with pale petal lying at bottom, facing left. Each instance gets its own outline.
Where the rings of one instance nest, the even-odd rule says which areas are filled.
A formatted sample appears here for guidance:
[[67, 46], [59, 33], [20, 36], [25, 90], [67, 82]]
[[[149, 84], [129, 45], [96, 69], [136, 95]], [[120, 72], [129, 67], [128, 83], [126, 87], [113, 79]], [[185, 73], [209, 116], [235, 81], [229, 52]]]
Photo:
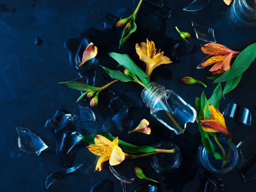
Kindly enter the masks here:
[[125, 160], [125, 154], [118, 146], [118, 137], [112, 142], [102, 135], [97, 135], [94, 139], [95, 145], [88, 145], [87, 148], [99, 157], [95, 171], [102, 170], [102, 163], [109, 160], [111, 166], [118, 165]]

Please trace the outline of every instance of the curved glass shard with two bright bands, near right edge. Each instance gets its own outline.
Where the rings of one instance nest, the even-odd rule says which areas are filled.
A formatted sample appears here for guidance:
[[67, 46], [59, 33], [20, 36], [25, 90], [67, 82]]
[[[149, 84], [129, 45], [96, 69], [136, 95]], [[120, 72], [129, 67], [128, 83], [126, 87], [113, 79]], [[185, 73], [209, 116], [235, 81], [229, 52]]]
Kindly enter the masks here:
[[251, 125], [252, 117], [250, 111], [236, 103], [230, 102], [227, 104], [222, 115], [232, 117], [236, 122], [242, 122], [247, 126]]

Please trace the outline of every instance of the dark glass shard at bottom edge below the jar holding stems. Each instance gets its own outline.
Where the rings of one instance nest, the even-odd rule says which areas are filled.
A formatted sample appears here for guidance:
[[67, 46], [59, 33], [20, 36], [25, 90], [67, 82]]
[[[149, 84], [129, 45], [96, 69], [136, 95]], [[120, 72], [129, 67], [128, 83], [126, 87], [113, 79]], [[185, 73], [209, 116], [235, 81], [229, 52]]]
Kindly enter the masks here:
[[210, 173], [201, 172], [199, 174], [200, 189], [204, 192], [221, 192], [224, 191], [224, 183], [221, 178], [212, 176]]

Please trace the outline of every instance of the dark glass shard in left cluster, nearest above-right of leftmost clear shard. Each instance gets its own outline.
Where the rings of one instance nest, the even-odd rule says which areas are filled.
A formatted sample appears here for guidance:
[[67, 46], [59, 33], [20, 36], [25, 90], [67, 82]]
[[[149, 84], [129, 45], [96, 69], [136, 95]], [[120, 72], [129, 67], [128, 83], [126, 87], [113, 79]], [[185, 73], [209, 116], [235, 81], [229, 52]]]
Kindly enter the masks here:
[[65, 109], [58, 109], [55, 115], [48, 119], [45, 127], [53, 129], [56, 132], [67, 126], [73, 121], [73, 115]]

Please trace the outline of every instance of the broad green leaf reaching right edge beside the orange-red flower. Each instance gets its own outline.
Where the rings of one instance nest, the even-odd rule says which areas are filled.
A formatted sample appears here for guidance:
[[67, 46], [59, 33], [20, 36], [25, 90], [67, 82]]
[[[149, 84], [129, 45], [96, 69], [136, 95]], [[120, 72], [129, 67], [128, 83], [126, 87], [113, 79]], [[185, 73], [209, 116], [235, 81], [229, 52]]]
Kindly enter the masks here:
[[221, 76], [215, 79], [215, 83], [228, 81], [233, 79], [241, 73], [244, 73], [245, 70], [250, 66], [250, 64], [256, 58], [256, 43], [249, 45], [240, 54], [236, 57], [233, 65], [230, 70], [225, 71]]

